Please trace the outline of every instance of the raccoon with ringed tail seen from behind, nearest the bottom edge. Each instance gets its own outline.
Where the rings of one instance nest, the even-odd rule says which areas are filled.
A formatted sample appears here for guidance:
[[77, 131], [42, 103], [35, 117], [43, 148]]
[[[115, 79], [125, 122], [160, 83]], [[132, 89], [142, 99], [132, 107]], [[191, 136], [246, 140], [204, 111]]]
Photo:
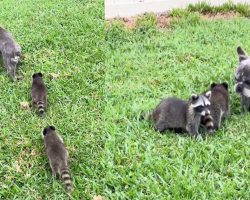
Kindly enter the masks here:
[[64, 181], [67, 191], [72, 192], [68, 167], [68, 151], [63, 144], [61, 136], [56, 133], [54, 126], [44, 128], [43, 140], [53, 175], [59, 175]]

